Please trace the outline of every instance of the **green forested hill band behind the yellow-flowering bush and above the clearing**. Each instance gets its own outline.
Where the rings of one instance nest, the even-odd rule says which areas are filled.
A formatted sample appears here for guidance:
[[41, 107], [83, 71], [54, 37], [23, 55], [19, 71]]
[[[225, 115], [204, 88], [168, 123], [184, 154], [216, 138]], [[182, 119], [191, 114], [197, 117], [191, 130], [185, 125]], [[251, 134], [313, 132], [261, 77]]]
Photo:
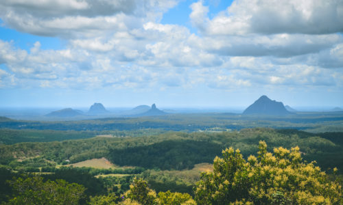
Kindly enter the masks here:
[[[23, 159], [32, 157], [56, 163], [106, 157], [115, 164], [146, 169], [191, 169], [196, 163], [211, 163], [222, 149], [228, 147], [239, 148], [244, 156], [249, 156], [257, 152], [257, 143], [264, 140], [269, 150], [279, 146], [299, 146], [305, 160], [316, 160], [324, 169], [338, 167], [342, 172], [342, 137], [343, 133], [313, 134], [296, 130], [249, 128], [221, 133], [173, 132], [146, 137], [95, 137], [16, 143], [0, 145], [0, 163], [21, 167], [21, 163], [25, 163]], [[21, 159], [21, 162], [17, 159]]]

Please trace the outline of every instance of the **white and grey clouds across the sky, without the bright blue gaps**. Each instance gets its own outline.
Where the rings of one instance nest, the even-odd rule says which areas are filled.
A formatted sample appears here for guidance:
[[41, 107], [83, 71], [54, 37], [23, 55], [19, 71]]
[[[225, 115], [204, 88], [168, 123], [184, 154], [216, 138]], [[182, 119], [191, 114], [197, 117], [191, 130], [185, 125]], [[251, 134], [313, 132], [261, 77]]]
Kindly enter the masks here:
[[3, 26], [67, 42], [29, 51], [0, 40], [0, 88], [163, 89], [343, 84], [343, 1], [237, 0], [212, 18], [189, 5], [192, 33], [161, 23], [178, 5], [146, 1], [1, 1]]

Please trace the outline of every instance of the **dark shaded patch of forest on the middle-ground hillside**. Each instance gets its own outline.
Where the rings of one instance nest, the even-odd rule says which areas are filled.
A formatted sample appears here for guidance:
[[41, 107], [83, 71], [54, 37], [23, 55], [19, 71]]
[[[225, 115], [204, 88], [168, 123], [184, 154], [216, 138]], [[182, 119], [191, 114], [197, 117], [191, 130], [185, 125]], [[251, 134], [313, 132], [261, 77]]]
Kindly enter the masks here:
[[149, 146], [110, 150], [109, 160], [117, 165], [133, 165], [148, 169], [191, 169], [209, 162], [220, 154], [222, 146], [206, 141], [162, 141]]

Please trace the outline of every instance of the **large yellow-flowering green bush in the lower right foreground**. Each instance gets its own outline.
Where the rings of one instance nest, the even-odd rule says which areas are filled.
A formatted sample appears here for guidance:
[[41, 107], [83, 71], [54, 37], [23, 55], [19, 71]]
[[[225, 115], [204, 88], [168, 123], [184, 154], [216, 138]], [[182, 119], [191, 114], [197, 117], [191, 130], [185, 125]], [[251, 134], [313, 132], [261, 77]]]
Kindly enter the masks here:
[[[202, 172], [194, 187], [198, 204], [343, 204], [342, 187], [315, 166], [302, 161], [299, 148], [274, 148], [259, 142], [258, 156], [246, 161], [226, 148], [213, 172]], [[335, 169], [336, 170], [336, 169]]]

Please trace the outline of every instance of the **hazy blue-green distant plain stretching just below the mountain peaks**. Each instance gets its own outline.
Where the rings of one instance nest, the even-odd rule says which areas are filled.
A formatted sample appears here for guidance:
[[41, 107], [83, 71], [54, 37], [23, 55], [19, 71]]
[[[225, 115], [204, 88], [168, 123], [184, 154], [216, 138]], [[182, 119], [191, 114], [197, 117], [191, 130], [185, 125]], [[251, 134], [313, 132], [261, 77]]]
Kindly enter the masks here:
[[295, 128], [311, 132], [343, 131], [343, 113], [297, 113], [287, 116], [238, 115], [232, 113], [169, 114], [140, 118], [102, 118], [75, 121], [24, 121], [0, 118], [0, 128], [56, 131], [226, 131], [242, 128]]

